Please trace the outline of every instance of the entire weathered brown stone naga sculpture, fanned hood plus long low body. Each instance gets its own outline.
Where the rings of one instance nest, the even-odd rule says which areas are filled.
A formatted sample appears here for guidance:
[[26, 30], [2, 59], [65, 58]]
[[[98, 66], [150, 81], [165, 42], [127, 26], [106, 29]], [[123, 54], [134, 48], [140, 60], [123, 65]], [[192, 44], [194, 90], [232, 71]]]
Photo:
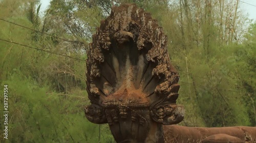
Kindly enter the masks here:
[[179, 75], [170, 64], [167, 37], [135, 4], [113, 7], [88, 50], [84, 111], [108, 123], [116, 142], [256, 142], [256, 127], [189, 128], [177, 105]]

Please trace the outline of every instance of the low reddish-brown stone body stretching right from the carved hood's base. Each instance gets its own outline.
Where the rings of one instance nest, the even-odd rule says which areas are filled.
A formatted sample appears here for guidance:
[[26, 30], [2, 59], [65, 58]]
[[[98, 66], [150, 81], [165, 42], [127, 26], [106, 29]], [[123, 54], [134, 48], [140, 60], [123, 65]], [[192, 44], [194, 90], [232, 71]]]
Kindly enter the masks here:
[[256, 143], [256, 127], [199, 128], [163, 126], [165, 142]]

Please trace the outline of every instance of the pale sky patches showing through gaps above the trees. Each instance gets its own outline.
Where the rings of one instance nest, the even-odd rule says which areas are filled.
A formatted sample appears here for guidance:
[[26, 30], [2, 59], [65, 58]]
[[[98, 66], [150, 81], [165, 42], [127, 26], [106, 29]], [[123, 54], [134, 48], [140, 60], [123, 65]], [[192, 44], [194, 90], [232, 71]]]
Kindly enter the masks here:
[[[41, 1], [41, 11], [45, 11], [49, 6], [51, 0], [40, 0]], [[228, 1], [228, 0], [225, 0]], [[249, 14], [249, 18], [256, 20], [256, 0], [239, 0], [241, 8], [245, 13]], [[247, 3], [247, 4], [245, 4]]]

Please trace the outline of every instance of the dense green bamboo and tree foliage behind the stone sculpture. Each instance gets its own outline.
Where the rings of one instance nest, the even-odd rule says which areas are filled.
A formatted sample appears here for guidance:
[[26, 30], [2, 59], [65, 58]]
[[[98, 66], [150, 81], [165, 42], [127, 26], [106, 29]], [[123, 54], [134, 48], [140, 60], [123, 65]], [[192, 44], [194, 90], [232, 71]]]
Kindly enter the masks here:
[[0, 39], [23, 44], [0, 40], [9, 105], [8, 139], [1, 118], [0, 142], [114, 142], [108, 125], [84, 117], [84, 60], [95, 27], [121, 3], [151, 12], [168, 36], [186, 109], [180, 125], [256, 126], [256, 23], [239, 1], [52, 0], [40, 16], [39, 1], [3, 0], [0, 18], [30, 29], [0, 19]]

